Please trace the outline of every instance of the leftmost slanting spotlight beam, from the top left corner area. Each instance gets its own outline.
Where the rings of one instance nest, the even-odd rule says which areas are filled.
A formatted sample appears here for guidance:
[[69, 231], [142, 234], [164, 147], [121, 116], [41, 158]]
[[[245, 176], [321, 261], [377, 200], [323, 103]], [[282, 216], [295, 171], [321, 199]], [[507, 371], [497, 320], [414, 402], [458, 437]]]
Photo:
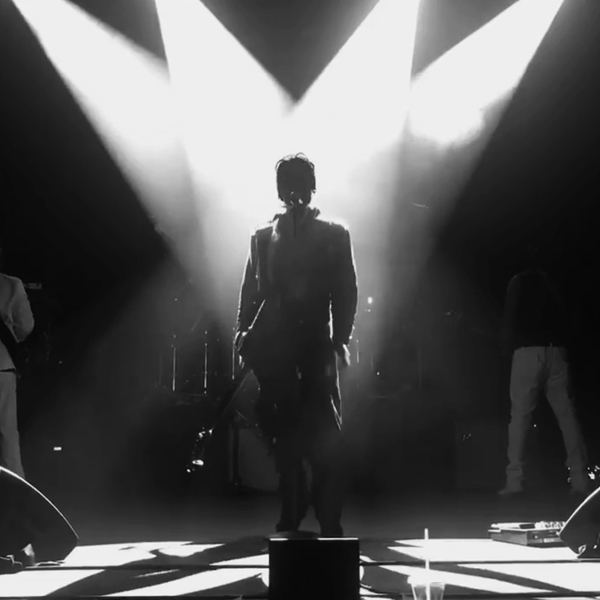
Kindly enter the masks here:
[[140, 201], [198, 268], [198, 213], [162, 61], [65, 0], [14, 0]]

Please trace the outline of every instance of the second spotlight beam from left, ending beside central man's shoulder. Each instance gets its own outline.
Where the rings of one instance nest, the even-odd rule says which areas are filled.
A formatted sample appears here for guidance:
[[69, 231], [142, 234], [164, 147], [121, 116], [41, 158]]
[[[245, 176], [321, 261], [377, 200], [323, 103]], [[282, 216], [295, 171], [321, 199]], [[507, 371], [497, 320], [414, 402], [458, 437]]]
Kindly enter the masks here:
[[156, 7], [199, 191], [205, 285], [229, 325], [249, 233], [276, 210], [273, 140], [291, 99], [201, 2], [156, 0]]

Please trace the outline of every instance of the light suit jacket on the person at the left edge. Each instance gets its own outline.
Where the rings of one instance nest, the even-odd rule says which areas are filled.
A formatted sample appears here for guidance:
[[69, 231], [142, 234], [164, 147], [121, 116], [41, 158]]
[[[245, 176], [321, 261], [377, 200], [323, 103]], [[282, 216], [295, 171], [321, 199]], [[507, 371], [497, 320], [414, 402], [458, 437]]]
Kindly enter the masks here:
[[[17, 342], [25, 341], [33, 331], [33, 314], [23, 282], [3, 273], [0, 273], [0, 318]], [[0, 371], [14, 368], [8, 350], [0, 342]]]

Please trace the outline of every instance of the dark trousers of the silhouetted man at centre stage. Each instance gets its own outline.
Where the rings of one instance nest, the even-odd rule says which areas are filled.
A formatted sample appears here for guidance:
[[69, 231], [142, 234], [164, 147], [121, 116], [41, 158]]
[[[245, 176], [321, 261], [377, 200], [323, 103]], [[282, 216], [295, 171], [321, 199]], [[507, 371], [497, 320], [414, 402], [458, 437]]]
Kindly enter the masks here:
[[[342, 535], [344, 495], [341, 423], [334, 404], [335, 355], [330, 345], [304, 346], [295, 360], [257, 373], [257, 421], [274, 440], [279, 474], [279, 531], [300, 527], [310, 505], [322, 535]], [[289, 359], [288, 355], [288, 359]], [[310, 467], [310, 486], [306, 466]]]

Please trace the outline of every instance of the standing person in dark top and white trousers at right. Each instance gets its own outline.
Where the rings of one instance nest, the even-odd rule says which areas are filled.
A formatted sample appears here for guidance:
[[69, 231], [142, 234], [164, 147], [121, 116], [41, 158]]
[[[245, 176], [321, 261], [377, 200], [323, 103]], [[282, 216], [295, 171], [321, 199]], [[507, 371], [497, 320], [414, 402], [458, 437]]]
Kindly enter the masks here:
[[589, 493], [587, 457], [569, 386], [566, 352], [571, 319], [555, 283], [529, 249], [531, 269], [509, 283], [502, 325], [502, 345], [512, 352], [511, 418], [508, 427], [506, 485], [500, 495], [523, 492], [525, 441], [533, 411], [545, 394], [562, 432], [572, 494]]

